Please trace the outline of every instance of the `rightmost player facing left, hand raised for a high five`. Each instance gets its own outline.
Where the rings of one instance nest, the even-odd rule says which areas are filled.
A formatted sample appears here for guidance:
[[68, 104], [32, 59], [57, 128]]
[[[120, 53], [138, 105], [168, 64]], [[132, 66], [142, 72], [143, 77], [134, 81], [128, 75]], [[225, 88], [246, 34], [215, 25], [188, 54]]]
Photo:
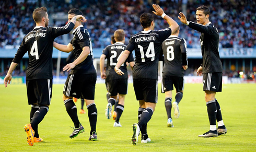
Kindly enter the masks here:
[[[203, 90], [207, 106], [208, 118], [210, 121], [210, 131], [199, 135], [199, 137], [217, 137], [226, 134], [222, 119], [222, 112], [218, 101], [215, 99], [216, 92], [222, 91], [222, 62], [219, 58], [219, 33], [217, 28], [210, 22], [210, 9], [207, 6], [196, 8], [196, 21], [187, 21], [183, 13], [179, 13], [180, 21], [190, 28], [201, 32], [200, 44], [203, 55], [203, 63], [197, 69], [196, 75], [203, 75]], [[218, 128], [216, 128], [216, 120]]]

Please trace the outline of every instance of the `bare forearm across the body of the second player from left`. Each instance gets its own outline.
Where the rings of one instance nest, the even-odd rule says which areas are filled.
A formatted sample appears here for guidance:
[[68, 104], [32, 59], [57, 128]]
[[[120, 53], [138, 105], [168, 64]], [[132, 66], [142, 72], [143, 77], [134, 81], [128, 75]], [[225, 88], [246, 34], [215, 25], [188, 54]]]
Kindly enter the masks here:
[[72, 62], [67, 64], [66, 66], [63, 67], [63, 71], [69, 71], [72, 68], [74, 68], [76, 65], [80, 64], [81, 62], [85, 61], [86, 57], [90, 54], [90, 48], [89, 46], [85, 46], [83, 48], [82, 53], [77, 57], [77, 59]]

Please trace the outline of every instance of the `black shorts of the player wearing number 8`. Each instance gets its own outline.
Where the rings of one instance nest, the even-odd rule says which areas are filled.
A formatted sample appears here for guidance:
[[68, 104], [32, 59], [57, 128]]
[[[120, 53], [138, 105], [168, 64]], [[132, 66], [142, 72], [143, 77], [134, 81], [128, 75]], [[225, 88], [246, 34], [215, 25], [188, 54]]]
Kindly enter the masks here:
[[161, 92], [165, 93], [166, 91], [173, 90], [173, 85], [176, 88], [177, 92], [183, 91], [184, 90], [183, 77], [177, 77], [177, 76], [162, 77]]

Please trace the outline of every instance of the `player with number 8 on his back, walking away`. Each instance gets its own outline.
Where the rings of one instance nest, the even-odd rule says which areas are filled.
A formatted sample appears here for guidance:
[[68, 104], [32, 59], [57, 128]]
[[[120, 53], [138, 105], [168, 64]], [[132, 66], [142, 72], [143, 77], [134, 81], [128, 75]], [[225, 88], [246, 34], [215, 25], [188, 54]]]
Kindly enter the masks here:
[[[180, 27], [162, 43], [164, 54], [164, 68], [162, 69], [162, 93], [165, 92], [165, 108], [168, 116], [167, 126], [173, 127], [171, 108], [174, 110], [174, 118], [180, 116], [179, 102], [183, 97], [184, 71], [188, 68], [187, 42], [179, 38]], [[173, 85], [176, 88], [175, 100], [172, 104]]]

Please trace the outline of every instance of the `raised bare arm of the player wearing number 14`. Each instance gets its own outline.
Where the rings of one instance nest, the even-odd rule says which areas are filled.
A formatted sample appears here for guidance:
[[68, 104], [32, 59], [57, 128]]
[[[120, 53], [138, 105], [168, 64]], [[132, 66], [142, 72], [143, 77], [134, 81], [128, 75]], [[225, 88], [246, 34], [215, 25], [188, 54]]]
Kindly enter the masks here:
[[175, 20], [173, 20], [172, 18], [170, 18], [168, 15], [166, 15], [164, 13], [164, 10], [162, 10], [162, 8], [159, 5], [153, 4], [153, 8], [155, 9], [155, 11], [153, 11], [153, 13], [155, 15], [158, 15], [158, 16], [161, 16], [162, 18], [164, 18], [167, 21], [167, 23], [169, 24], [172, 32], [176, 31], [176, 29], [179, 27], [177, 22]]

